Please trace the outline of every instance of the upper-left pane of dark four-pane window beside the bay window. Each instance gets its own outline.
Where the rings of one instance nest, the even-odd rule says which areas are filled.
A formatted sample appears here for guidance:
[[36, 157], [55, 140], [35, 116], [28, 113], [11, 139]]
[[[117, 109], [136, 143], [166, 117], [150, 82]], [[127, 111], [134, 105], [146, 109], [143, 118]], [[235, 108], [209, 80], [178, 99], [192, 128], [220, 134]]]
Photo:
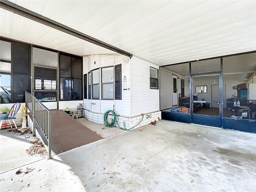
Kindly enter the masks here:
[[60, 55], [60, 77], [71, 78], [71, 57]]

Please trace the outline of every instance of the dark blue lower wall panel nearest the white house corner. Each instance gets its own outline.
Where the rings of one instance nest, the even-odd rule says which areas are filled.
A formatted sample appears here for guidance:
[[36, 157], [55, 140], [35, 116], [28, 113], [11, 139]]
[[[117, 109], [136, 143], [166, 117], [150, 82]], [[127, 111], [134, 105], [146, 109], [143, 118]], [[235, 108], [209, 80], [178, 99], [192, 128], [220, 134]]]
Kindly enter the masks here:
[[191, 115], [189, 113], [176, 113], [162, 111], [162, 119], [170, 121], [178, 121], [182, 123], [191, 123]]

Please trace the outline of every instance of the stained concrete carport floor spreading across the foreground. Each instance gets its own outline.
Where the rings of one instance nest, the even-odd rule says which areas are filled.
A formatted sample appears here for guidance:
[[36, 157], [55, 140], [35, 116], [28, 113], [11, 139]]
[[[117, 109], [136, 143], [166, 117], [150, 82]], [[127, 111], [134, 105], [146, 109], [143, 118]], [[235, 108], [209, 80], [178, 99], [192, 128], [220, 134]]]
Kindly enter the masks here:
[[0, 190], [254, 192], [255, 159], [256, 134], [161, 120], [1, 171]]

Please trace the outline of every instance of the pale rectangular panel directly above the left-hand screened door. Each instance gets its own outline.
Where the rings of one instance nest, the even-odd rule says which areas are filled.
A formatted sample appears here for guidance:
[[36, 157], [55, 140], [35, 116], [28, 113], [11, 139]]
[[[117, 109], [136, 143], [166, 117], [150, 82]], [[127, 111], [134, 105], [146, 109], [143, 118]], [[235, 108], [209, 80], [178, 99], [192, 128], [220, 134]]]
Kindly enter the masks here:
[[58, 53], [33, 47], [33, 64], [58, 67]]

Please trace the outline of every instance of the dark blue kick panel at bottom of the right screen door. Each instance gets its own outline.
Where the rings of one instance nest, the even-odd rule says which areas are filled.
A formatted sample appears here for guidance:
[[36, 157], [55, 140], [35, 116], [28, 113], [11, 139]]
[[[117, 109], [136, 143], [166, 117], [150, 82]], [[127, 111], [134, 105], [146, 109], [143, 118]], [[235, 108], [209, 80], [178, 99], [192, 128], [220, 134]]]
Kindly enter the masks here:
[[192, 122], [200, 125], [221, 127], [220, 116], [193, 114]]

